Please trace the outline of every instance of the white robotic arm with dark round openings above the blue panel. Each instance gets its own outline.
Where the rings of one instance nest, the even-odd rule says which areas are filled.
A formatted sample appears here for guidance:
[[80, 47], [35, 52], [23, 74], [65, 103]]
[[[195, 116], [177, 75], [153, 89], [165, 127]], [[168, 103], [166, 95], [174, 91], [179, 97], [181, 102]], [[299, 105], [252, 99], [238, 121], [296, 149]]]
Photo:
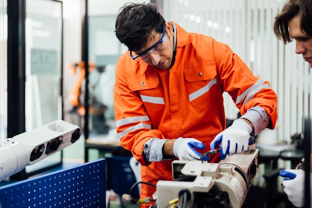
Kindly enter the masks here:
[[57, 120], [0, 141], [0, 181], [76, 142], [79, 126]]

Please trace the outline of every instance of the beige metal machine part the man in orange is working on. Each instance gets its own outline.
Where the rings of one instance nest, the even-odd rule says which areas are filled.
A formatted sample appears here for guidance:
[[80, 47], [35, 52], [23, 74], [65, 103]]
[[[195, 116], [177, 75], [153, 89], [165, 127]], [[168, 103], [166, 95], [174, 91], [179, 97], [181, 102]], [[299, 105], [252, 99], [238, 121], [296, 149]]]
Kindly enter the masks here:
[[219, 163], [173, 161], [173, 181], [156, 184], [156, 207], [188, 190], [185, 208], [241, 208], [261, 163], [258, 149], [226, 157]]

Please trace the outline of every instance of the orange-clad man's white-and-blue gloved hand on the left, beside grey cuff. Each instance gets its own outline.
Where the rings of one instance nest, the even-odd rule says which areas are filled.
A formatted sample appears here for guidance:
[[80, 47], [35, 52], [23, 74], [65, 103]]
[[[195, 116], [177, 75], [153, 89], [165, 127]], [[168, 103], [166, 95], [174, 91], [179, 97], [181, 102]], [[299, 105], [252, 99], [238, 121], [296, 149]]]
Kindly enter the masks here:
[[[197, 152], [195, 148], [203, 150], [205, 145], [194, 138], [179, 137], [173, 144], [173, 153], [175, 157], [179, 158], [179, 160], [200, 160], [201, 154]], [[209, 161], [209, 157], [205, 156], [203, 160]]]

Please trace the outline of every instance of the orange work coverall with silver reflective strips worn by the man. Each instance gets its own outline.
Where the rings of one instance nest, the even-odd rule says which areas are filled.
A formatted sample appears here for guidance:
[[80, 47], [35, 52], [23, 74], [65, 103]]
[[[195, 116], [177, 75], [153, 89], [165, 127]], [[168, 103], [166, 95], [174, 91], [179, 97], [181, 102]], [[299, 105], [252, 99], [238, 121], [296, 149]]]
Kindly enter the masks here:
[[[267, 128], [273, 129], [277, 120], [277, 95], [268, 81], [254, 76], [226, 44], [176, 26], [176, 60], [171, 69], [132, 60], [127, 51], [115, 72], [120, 144], [142, 165], [142, 181], [155, 185], [158, 180], [172, 180], [171, 163], [177, 158], [148, 162], [144, 144], [151, 138], [184, 137], [202, 141], [205, 149], [201, 153], [210, 150], [210, 142], [226, 128], [223, 92], [229, 93], [242, 115], [255, 106], [264, 108], [271, 118]], [[251, 91], [256, 87], [260, 90]], [[219, 160], [212, 157], [210, 162]], [[142, 184], [141, 199], [152, 197], [155, 191]]]

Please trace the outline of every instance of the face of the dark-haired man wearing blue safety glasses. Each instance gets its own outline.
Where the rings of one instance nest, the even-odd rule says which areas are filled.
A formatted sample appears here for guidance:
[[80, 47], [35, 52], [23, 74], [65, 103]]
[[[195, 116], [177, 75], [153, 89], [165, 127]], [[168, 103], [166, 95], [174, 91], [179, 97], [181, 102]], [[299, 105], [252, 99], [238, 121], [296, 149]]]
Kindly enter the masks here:
[[[163, 43], [155, 48], [155, 50], [148, 51], [146, 56], [149, 58], [145, 62], [151, 66], [159, 69], [166, 69], [170, 66], [173, 57], [173, 33], [171, 24], [169, 22], [165, 23], [165, 39]], [[147, 44], [141, 48], [140, 51], [135, 51], [136, 54], [152, 47], [161, 38], [161, 33], [153, 33], [149, 38]]]

